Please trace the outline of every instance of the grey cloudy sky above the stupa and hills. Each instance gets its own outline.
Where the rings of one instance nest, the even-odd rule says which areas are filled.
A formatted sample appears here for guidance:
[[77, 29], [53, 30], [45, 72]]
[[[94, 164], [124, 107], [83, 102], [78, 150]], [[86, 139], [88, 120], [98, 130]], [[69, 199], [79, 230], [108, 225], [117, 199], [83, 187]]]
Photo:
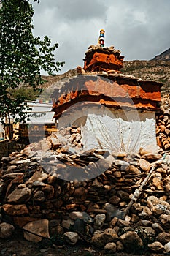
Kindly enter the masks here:
[[150, 60], [170, 48], [170, 0], [40, 0], [34, 3], [34, 35], [58, 42], [61, 73], [83, 67], [89, 45], [100, 29], [105, 46], [114, 45], [125, 60]]

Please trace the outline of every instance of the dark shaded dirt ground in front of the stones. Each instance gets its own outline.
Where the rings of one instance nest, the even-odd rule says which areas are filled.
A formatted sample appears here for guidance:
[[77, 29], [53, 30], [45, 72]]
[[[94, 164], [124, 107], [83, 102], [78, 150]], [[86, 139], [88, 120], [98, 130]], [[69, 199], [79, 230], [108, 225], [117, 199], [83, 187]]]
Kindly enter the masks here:
[[0, 239], [0, 255], [2, 256], [162, 256], [163, 254], [128, 254], [125, 252], [106, 254], [104, 250], [97, 250], [84, 241], [75, 246], [63, 244], [58, 246], [51, 241], [42, 241], [38, 244], [26, 241], [21, 233], [15, 233], [12, 237]]

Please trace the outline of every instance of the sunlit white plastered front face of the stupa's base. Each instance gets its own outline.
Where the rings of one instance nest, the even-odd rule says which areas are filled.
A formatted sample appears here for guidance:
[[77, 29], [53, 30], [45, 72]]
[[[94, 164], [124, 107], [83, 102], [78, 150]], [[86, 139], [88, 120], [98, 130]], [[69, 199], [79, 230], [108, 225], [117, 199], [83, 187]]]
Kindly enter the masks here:
[[88, 114], [82, 127], [86, 149], [99, 147], [131, 153], [138, 152], [140, 147], [156, 145], [154, 112], [115, 110], [114, 114], [112, 117]]

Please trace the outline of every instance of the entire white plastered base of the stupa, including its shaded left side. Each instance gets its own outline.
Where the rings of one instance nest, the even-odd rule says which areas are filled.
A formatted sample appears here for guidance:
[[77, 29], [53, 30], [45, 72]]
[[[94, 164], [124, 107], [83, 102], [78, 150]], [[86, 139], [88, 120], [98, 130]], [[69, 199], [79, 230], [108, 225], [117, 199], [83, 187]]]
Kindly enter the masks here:
[[101, 105], [81, 108], [77, 105], [59, 119], [59, 128], [73, 124], [82, 128], [85, 150], [103, 148], [137, 153], [140, 147], [156, 145], [153, 111], [115, 110]]

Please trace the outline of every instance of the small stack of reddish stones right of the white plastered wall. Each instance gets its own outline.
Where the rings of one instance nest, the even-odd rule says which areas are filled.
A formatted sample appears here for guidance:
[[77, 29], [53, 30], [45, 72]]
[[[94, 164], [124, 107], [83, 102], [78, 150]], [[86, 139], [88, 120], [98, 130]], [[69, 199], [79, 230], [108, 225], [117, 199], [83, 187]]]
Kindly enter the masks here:
[[157, 117], [156, 136], [158, 145], [168, 150], [170, 149], [170, 94], [161, 100], [162, 113]]

